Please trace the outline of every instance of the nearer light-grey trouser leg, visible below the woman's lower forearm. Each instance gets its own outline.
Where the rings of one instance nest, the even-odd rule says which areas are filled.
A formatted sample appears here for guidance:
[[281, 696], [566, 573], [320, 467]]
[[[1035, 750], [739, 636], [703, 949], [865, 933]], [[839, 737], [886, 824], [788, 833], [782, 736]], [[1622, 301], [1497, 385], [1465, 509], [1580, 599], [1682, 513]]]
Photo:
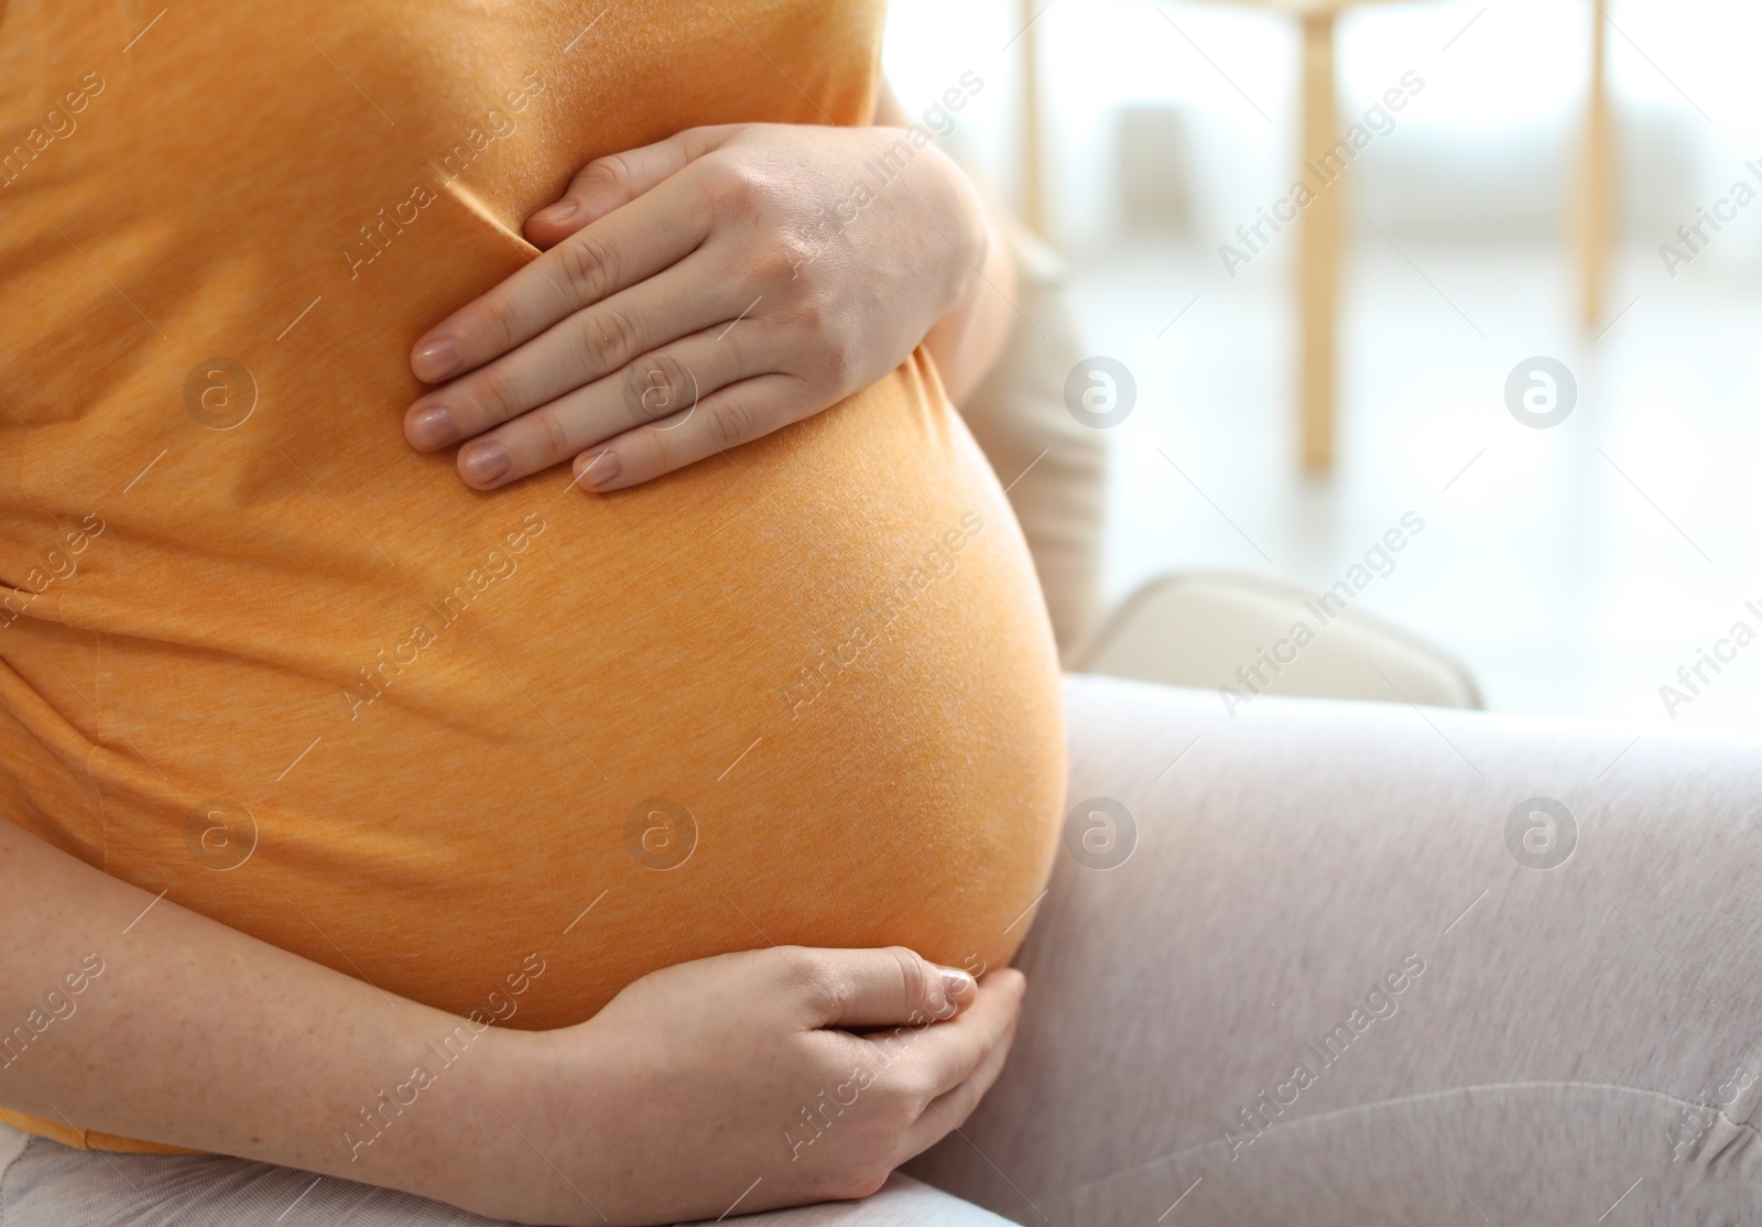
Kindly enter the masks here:
[[[0, 1167], [0, 1227], [513, 1227], [409, 1194], [222, 1155], [104, 1155], [37, 1137], [11, 1165]], [[860, 1202], [731, 1222], [747, 1227], [1003, 1223], [899, 1172]]]

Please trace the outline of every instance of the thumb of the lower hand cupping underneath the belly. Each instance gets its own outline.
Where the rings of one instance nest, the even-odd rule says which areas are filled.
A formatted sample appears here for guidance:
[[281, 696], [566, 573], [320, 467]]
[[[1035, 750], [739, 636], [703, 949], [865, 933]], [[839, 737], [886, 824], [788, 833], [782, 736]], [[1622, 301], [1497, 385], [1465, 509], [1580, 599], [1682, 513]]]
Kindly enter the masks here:
[[793, 947], [781, 964], [786, 989], [803, 1000], [803, 1026], [853, 1028], [914, 1024], [950, 1017], [978, 998], [960, 968], [930, 963], [906, 947], [812, 950]]

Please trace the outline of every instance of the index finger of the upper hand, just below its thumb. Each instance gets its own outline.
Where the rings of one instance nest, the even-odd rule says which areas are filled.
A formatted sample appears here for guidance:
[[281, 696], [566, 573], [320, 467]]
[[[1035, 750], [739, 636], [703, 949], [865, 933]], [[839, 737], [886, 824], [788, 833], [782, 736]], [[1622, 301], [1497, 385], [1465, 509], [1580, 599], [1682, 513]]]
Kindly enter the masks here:
[[710, 210], [677, 175], [640, 208], [620, 208], [541, 254], [423, 333], [411, 370], [440, 383], [537, 337], [564, 316], [677, 264], [710, 233]]

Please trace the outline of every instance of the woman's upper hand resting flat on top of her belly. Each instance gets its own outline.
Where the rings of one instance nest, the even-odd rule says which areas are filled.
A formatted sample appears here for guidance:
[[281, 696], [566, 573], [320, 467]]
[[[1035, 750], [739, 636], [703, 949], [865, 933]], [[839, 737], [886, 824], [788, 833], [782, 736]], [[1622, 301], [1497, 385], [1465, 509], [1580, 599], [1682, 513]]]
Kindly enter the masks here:
[[647, 481], [826, 409], [967, 294], [988, 227], [934, 148], [879, 127], [737, 123], [585, 166], [546, 249], [432, 328], [405, 414], [490, 490], [574, 458]]

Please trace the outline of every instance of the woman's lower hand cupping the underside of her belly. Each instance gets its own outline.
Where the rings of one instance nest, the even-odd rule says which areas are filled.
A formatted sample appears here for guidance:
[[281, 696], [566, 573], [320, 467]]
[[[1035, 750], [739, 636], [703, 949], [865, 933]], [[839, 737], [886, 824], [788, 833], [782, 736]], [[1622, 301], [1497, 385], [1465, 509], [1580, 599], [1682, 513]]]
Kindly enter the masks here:
[[655, 971], [580, 1026], [522, 1037], [525, 1091], [504, 1111], [553, 1174], [504, 1181], [516, 1204], [481, 1213], [673, 1223], [865, 1197], [990, 1089], [1024, 985], [899, 947]]

